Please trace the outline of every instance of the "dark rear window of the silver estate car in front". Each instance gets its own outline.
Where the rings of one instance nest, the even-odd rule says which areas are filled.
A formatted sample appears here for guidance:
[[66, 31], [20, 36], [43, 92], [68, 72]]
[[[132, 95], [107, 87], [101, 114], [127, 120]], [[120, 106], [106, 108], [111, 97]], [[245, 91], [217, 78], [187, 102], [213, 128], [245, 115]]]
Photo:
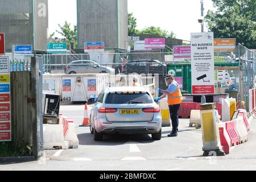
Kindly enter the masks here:
[[152, 104], [148, 93], [109, 93], [106, 104]]

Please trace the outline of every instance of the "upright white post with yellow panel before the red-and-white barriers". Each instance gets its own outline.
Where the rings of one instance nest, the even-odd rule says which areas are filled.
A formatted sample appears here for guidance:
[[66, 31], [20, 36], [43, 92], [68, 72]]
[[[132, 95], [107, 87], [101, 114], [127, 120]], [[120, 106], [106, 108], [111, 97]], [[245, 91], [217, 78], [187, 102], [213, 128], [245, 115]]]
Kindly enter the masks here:
[[217, 126], [218, 111], [215, 110], [216, 104], [202, 104], [200, 109], [201, 126], [203, 133], [203, 156], [214, 154], [224, 156], [220, 142], [220, 133]]

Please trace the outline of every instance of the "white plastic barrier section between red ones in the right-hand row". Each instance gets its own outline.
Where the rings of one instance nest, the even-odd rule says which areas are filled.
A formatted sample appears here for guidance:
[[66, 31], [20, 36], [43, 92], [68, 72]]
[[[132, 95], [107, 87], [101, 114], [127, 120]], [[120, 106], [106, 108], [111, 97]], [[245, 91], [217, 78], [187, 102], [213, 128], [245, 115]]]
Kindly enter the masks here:
[[238, 133], [238, 137], [239, 137], [239, 143], [245, 143], [248, 140], [248, 131], [245, 127], [245, 125], [243, 124], [243, 118], [237, 118], [237, 119], [233, 119], [232, 121], [234, 121], [235, 123], [235, 129]]

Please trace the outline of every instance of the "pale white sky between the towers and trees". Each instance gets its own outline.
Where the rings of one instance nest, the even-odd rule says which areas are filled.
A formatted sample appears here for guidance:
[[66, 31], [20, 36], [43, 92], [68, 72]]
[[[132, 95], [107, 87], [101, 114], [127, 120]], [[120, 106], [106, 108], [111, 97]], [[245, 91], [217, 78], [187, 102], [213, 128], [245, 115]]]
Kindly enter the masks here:
[[[49, 0], [49, 34], [65, 20], [76, 24], [76, 0]], [[204, 14], [213, 9], [211, 0], [204, 0]], [[155, 26], [173, 31], [176, 38], [189, 40], [191, 32], [200, 32], [200, 0], [128, 0], [128, 12], [137, 18], [137, 28]], [[205, 27], [207, 30], [207, 27]], [[60, 35], [56, 35], [60, 38]]]

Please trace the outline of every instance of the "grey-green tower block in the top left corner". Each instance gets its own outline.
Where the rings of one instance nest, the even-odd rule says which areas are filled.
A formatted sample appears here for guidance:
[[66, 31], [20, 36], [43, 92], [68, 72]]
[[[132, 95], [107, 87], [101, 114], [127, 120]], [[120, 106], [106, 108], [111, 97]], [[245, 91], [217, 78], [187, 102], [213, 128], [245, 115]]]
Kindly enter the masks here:
[[[38, 17], [38, 3], [46, 4], [46, 16]], [[35, 1], [36, 49], [46, 51], [48, 30], [48, 0]], [[0, 32], [5, 32], [6, 51], [13, 45], [32, 45], [32, 0], [0, 1]]]

